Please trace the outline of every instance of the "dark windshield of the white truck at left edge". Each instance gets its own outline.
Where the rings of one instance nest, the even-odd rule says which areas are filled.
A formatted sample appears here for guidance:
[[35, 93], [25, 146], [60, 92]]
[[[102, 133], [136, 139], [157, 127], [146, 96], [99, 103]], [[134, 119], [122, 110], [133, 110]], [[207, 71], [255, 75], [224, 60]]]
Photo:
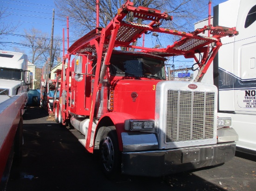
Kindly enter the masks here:
[[0, 79], [6, 80], [22, 80], [22, 70], [11, 68], [0, 68]]

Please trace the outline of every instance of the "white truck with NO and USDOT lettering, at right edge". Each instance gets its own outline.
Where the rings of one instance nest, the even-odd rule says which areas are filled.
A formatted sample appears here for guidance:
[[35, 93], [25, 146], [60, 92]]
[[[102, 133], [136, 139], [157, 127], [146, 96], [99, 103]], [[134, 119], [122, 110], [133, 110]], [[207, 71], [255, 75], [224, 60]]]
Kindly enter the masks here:
[[239, 35], [222, 39], [212, 72], [203, 80], [219, 90], [218, 116], [232, 118], [239, 135], [236, 150], [256, 155], [256, 1], [228, 0], [215, 6], [213, 25], [236, 25]]

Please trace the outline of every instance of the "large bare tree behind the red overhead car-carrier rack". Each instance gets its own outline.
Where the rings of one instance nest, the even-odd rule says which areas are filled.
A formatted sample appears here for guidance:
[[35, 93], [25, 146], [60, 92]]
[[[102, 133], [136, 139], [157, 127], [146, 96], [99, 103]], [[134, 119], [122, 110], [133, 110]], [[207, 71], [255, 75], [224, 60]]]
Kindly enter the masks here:
[[[54, 0], [57, 7], [56, 13], [66, 21], [69, 17], [70, 30], [80, 38], [96, 26], [95, 4], [96, 0]], [[100, 26], [106, 27], [117, 13], [117, 9], [126, 0], [100, 0]], [[173, 21], [163, 22], [162, 27], [192, 31], [195, 21], [202, 19], [208, 14], [207, 1], [205, 0], [133, 0], [135, 6], [146, 6], [160, 9], [174, 16]], [[128, 14], [126, 20], [142, 23]]]

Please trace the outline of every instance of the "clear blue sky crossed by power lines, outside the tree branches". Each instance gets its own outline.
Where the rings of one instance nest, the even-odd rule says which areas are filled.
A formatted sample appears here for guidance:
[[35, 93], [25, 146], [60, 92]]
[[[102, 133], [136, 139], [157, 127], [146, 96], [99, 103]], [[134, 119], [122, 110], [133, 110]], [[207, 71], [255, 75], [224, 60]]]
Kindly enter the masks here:
[[[212, 6], [224, 1], [227, 0], [212, 0]], [[206, 5], [208, 5], [208, 2], [209, 0], [205, 0]], [[49, 35], [51, 34], [53, 9], [55, 8], [54, 0], [0, 0], [0, 8], [5, 10], [5, 15], [8, 15], [8, 17], [2, 18], [0, 23], [19, 25], [14, 33], [1, 36], [0, 50], [15, 51], [16, 47], [26, 53], [29, 48], [21, 43], [24, 40], [22, 35], [24, 35], [25, 28], [31, 29], [34, 27], [42, 32], [47, 32]], [[208, 9], [205, 10], [205, 17], [208, 17]], [[56, 35], [62, 37], [63, 28], [65, 28], [66, 35], [66, 23], [58, 20], [55, 13], [54, 37]], [[70, 33], [70, 45], [76, 39]]]

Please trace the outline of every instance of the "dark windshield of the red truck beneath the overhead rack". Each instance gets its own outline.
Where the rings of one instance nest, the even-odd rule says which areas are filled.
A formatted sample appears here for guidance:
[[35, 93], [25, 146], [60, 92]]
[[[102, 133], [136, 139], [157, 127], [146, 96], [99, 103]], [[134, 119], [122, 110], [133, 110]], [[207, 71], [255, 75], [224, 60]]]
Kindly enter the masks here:
[[166, 79], [164, 61], [151, 57], [113, 55], [110, 59], [109, 71], [111, 76]]

